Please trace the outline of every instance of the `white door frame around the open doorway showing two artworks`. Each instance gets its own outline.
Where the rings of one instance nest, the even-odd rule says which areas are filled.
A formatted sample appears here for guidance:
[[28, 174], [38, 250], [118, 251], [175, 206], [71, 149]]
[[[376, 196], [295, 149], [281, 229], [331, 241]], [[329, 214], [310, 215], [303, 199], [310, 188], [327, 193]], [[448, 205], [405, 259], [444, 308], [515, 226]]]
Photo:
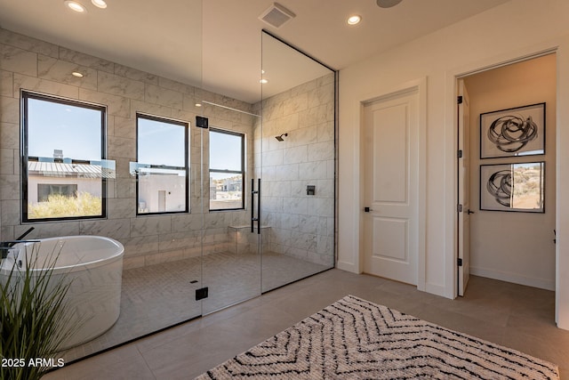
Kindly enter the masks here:
[[[457, 152], [458, 152], [458, 131], [459, 131], [459, 125], [458, 125], [458, 108], [456, 107], [456, 97], [458, 96], [459, 93], [459, 81], [465, 77], [469, 77], [472, 76], [474, 74], [477, 73], [481, 73], [484, 71], [488, 71], [488, 70], [492, 70], [492, 69], [498, 69], [501, 67], [506, 67], [518, 62], [522, 62], [522, 61], [529, 61], [532, 60], [534, 58], [539, 58], [541, 56], [544, 55], [548, 55], [548, 54], [556, 54], [556, 61], [557, 61], [557, 68], [559, 67], [559, 55], [558, 55], [558, 48], [557, 46], [547, 46], [541, 49], [533, 49], [530, 52], [527, 53], [519, 53], [517, 55], [514, 56], [510, 56], [508, 58], [504, 58], [502, 57], [500, 58], [496, 58], [492, 61], [489, 62], [485, 62], [485, 64], [482, 63], [477, 63], [477, 64], [472, 64], [470, 65], [468, 68], [461, 68], [461, 69], [454, 69], [452, 71], [448, 71], [447, 72], [447, 77], [446, 77], [446, 90], [447, 90], [447, 96], [446, 96], [446, 114], [449, 117], [453, 117], [451, 120], [454, 120], [453, 123], [449, 123], [449, 125], [452, 125], [453, 131], [446, 131], [447, 135], [450, 136], [453, 139], [453, 166], [452, 166], [452, 170], [453, 170], [453, 183], [447, 182], [445, 184], [445, 186], [452, 186], [453, 188], [453, 203], [452, 205], [449, 204], [448, 199], [447, 199], [447, 204], [446, 204], [446, 209], [447, 209], [447, 215], [449, 215], [450, 213], [453, 213], [453, 218], [447, 218], [447, 221], [452, 221], [452, 225], [449, 225], [449, 223], [447, 223], [446, 225], [446, 230], [453, 230], [453, 234], [452, 234], [452, 240], [447, 239], [445, 242], [445, 247], [447, 247], [447, 249], [445, 249], [446, 252], [450, 252], [452, 253], [452, 255], [445, 255], [445, 273], [450, 276], [449, 278], [452, 279], [452, 281], [450, 281], [450, 283], [447, 283], [447, 289], [445, 292], [445, 295], [449, 296], [449, 298], [456, 298], [459, 296], [459, 285], [458, 285], [458, 257], [459, 257], [459, 229], [458, 229], [458, 225], [459, 225], [459, 213], [456, 212], [457, 211], [457, 206], [459, 204], [459, 194], [458, 194], [458, 184], [459, 184], [459, 177], [458, 177], [458, 166], [459, 166], [459, 159], [457, 158]], [[557, 69], [557, 93], [559, 93], [558, 91], [558, 87], [559, 87], [559, 75], [558, 75], [559, 70]], [[450, 90], [450, 91], [449, 91]], [[559, 105], [560, 101], [559, 101], [559, 96], [557, 94], [557, 120], [559, 119]], [[447, 125], [447, 126], [449, 126]], [[560, 125], [559, 123], [557, 123], [557, 125]], [[558, 128], [557, 128], [558, 129]], [[557, 135], [556, 133], [556, 138], [557, 138], [557, 146], [559, 144], [559, 135]], [[447, 146], [451, 146], [451, 144], [448, 144]], [[448, 161], [447, 161], [448, 164]], [[559, 171], [559, 154], [557, 154], [557, 158], [556, 158], [556, 166], [557, 166], [557, 174]], [[449, 166], [447, 166], [449, 167]], [[559, 177], [558, 177], [559, 178]], [[449, 189], [449, 187], [447, 187], [447, 189]], [[558, 195], [558, 184], [556, 186], [556, 198], [559, 198]], [[558, 205], [557, 205], [557, 210], [556, 210], [556, 214], [558, 214]], [[558, 221], [558, 217], [556, 216], [557, 221]], [[557, 224], [558, 222], [556, 222]], [[558, 225], [556, 225], [556, 229], [558, 230]], [[451, 235], [451, 234], [449, 234]], [[450, 245], [449, 245], [450, 244]], [[450, 249], [449, 249], [450, 248]], [[559, 278], [558, 278], [558, 272], [559, 272], [559, 244], [558, 244], [558, 239], [557, 239], [557, 247], [556, 247], [556, 283], [557, 283], [557, 289], [556, 289], [556, 322], [558, 321], [558, 290], [559, 290]], [[452, 288], [451, 288], [452, 287]], [[564, 327], [567, 328], [567, 327]]]

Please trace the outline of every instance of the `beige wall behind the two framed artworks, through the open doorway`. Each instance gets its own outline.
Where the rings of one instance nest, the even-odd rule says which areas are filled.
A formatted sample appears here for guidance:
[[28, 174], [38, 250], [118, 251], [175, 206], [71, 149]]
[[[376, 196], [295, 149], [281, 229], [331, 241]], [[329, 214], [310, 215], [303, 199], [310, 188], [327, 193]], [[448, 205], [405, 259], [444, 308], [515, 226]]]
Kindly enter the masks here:
[[[555, 290], [556, 56], [465, 78], [470, 95], [470, 273]], [[546, 103], [545, 154], [480, 159], [480, 114]], [[479, 209], [480, 165], [545, 161], [545, 213]]]

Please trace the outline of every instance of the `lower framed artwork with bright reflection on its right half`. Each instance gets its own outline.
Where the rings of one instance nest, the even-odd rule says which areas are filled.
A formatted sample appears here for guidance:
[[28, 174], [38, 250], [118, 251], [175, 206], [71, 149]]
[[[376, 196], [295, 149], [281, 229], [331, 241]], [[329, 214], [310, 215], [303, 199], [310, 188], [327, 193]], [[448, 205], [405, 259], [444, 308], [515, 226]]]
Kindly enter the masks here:
[[545, 162], [480, 166], [480, 210], [545, 213]]

